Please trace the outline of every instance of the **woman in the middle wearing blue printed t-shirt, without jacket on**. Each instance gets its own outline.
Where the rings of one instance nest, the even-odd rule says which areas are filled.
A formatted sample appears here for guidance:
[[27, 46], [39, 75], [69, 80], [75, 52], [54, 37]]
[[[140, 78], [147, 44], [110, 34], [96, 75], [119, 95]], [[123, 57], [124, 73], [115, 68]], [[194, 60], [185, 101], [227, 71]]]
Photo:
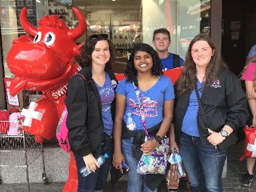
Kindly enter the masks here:
[[[162, 75], [162, 66], [157, 52], [145, 43], [138, 43], [130, 54], [125, 71], [126, 78], [116, 89], [114, 119], [113, 165], [122, 168], [122, 162], [130, 167], [128, 192], [157, 191], [162, 175], [142, 175], [136, 172], [142, 153], [149, 154], [159, 145], [169, 130], [173, 116], [174, 88], [170, 78]], [[141, 94], [143, 108], [135, 93]], [[153, 140], [143, 140], [142, 115], [146, 118], [148, 133]], [[130, 123], [129, 118], [134, 123]], [[159, 177], [160, 176], [160, 177]], [[152, 183], [154, 183], [152, 185]], [[150, 184], [150, 187], [149, 187]]]

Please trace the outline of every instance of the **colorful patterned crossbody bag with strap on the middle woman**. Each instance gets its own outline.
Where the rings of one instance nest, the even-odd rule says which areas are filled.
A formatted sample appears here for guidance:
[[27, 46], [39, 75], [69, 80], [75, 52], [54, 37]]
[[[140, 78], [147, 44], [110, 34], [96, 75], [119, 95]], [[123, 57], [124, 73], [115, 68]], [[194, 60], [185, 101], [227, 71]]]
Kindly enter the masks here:
[[[138, 98], [138, 105], [141, 111], [142, 126], [145, 134], [145, 142], [154, 139], [153, 136], [148, 134], [146, 126], [146, 115], [144, 115], [142, 106], [142, 95], [138, 86], [134, 85], [135, 94]], [[138, 174], [166, 174], [166, 166], [169, 154], [169, 138], [166, 136], [162, 139], [160, 144], [152, 153], [142, 154], [138, 161], [137, 173]]]

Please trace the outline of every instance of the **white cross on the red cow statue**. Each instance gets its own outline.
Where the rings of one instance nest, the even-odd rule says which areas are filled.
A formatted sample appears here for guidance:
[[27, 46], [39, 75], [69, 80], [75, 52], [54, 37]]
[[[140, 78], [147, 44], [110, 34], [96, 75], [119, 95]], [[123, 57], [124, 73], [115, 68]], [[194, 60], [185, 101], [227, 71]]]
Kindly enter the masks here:
[[24, 126], [30, 126], [32, 123], [32, 119], [42, 120], [42, 113], [35, 111], [34, 109], [38, 106], [36, 102], [30, 102], [29, 109], [22, 109], [22, 115], [25, 116], [25, 120], [23, 122]]

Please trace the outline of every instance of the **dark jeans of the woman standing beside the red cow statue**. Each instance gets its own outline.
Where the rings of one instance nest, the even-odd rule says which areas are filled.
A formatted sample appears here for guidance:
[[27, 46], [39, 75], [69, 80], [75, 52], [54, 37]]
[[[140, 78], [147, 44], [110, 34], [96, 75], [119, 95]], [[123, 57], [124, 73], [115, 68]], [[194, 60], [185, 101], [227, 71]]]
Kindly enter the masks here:
[[[104, 151], [104, 152], [103, 152]], [[109, 158], [106, 158], [106, 161], [96, 170], [95, 173], [91, 173], [86, 177], [82, 177], [79, 170], [86, 166], [82, 157], [74, 154], [75, 162], [78, 167], [78, 192], [103, 192], [103, 189], [106, 185], [106, 179], [110, 171], [110, 166], [113, 158], [113, 139], [110, 138], [107, 143], [107, 148], [102, 147], [102, 154], [107, 153]]]

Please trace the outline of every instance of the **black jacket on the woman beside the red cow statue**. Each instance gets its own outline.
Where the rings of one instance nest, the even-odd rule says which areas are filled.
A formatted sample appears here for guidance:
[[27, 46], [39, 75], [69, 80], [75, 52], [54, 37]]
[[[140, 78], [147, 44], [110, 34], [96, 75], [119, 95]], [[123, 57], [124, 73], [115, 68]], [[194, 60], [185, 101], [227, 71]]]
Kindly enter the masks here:
[[[112, 72], [110, 75], [112, 86], [115, 88], [117, 80]], [[102, 103], [98, 89], [92, 79], [91, 67], [86, 66], [79, 71], [81, 75], [74, 75], [67, 86], [66, 108], [68, 116], [66, 126], [69, 130], [71, 150], [81, 156], [94, 154], [97, 158], [102, 153]], [[111, 106], [114, 119], [114, 102]]]

